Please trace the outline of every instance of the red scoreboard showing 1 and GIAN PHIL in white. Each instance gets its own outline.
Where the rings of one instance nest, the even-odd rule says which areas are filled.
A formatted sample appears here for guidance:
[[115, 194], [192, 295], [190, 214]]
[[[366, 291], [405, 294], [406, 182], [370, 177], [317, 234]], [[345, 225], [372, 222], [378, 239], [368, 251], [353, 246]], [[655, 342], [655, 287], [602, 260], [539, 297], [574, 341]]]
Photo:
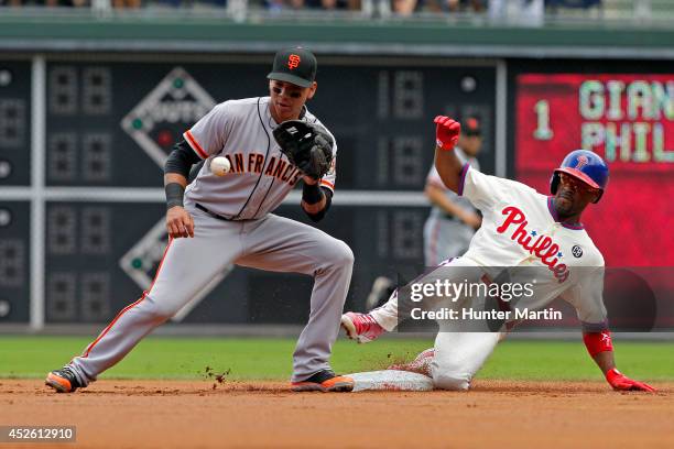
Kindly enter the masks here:
[[607, 265], [674, 265], [674, 74], [522, 73], [514, 101], [517, 178], [550, 191], [564, 155], [598, 153], [609, 184], [583, 222]]

